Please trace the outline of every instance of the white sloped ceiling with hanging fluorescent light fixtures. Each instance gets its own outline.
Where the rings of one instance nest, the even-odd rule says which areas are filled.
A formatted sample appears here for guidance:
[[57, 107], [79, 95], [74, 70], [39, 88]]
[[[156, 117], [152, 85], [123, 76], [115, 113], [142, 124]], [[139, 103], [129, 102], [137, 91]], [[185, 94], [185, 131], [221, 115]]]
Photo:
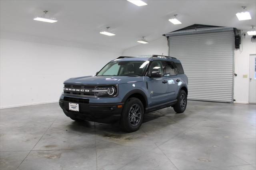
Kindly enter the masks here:
[[[204, 24], [248, 30], [256, 25], [256, 0], [144, 0], [136, 6], [126, 0], [1, 0], [0, 30], [76, 43], [92, 43], [117, 49], [138, 45], [145, 36], [149, 42], [162, 34]], [[238, 21], [237, 12], [247, 6], [252, 20]], [[48, 10], [56, 23], [34, 21]], [[174, 14], [182, 22], [168, 21]], [[116, 36], [104, 36], [100, 30], [110, 26]]]

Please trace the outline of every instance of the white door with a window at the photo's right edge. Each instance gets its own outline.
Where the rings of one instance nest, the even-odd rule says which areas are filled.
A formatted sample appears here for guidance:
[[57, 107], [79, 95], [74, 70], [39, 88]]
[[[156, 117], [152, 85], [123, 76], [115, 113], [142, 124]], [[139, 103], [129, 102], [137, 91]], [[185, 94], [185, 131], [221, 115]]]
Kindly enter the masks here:
[[256, 103], [256, 55], [250, 55], [249, 103]]

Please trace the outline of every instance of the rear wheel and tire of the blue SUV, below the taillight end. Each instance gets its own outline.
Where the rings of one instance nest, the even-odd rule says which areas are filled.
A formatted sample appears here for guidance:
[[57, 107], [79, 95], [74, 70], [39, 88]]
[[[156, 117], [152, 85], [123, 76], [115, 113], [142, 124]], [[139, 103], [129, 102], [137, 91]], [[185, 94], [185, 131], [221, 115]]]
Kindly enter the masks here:
[[177, 99], [178, 101], [174, 105], [173, 109], [176, 113], [183, 113], [187, 107], [187, 93], [184, 90], [180, 90]]

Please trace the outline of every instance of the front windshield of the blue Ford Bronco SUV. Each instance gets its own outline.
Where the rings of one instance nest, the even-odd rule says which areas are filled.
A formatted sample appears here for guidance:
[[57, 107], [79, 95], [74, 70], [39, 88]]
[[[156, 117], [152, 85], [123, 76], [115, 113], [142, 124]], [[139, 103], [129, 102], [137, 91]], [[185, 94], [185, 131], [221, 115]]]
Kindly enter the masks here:
[[108, 63], [97, 75], [143, 76], [149, 61], [114, 61]]

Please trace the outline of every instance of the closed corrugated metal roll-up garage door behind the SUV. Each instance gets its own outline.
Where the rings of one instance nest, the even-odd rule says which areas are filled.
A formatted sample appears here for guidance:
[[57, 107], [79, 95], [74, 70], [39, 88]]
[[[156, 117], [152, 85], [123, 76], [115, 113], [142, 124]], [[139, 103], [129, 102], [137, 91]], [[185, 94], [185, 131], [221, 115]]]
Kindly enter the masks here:
[[188, 76], [188, 99], [233, 102], [234, 32], [169, 36]]

